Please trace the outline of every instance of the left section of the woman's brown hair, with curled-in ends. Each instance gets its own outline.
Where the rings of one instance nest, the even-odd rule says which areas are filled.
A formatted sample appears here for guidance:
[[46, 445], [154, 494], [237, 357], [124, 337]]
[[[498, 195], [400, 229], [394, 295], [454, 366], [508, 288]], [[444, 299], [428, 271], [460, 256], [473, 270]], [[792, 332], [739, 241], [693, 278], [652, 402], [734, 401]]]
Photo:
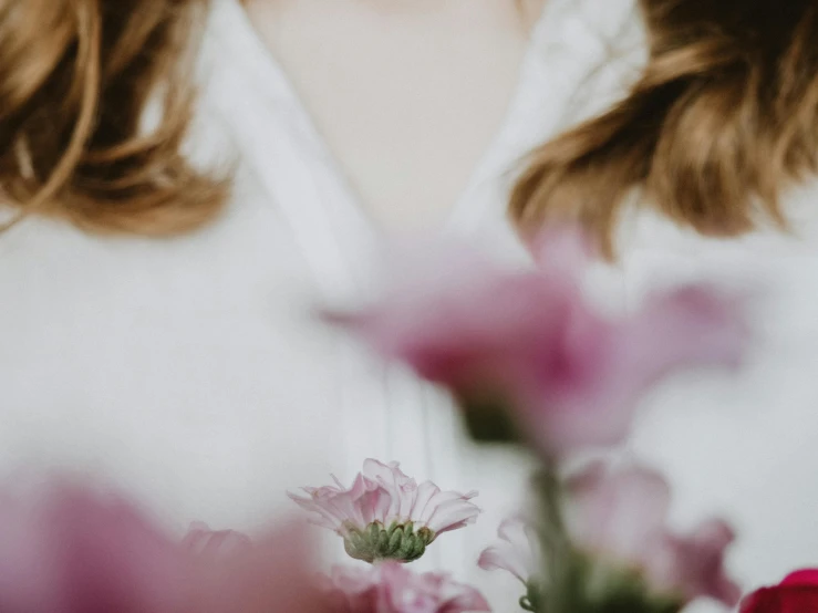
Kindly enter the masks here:
[[[224, 181], [180, 144], [206, 0], [0, 0], [0, 200], [90, 231], [169, 235], [211, 218]], [[183, 77], [184, 76], [184, 77]], [[155, 129], [142, 129], [148, 103]]]

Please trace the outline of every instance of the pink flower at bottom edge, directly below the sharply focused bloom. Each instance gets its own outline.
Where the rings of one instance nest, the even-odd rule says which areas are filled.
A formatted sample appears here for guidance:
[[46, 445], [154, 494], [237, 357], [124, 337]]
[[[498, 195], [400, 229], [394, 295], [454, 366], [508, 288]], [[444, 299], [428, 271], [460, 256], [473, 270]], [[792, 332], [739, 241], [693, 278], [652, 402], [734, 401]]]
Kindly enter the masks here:
[[328, 591], [338, 613], [465, 613], [490, 611], [486, 599], [447, 574], [416, 574], [389, 561], [366, 569], [335, 568]]

